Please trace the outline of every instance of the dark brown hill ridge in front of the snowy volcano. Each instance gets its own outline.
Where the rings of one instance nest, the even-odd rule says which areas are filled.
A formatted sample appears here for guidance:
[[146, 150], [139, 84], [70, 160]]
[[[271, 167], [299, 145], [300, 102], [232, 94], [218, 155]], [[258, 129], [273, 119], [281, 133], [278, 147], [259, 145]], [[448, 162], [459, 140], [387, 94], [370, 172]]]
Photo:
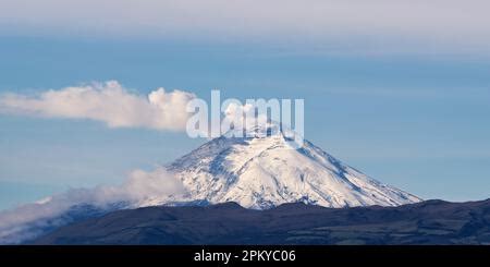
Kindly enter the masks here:
[[119, 210], [73, 223], [35, 244], [490, 244], [490, 199], [400, 207], [268, 210], [234, 203]]

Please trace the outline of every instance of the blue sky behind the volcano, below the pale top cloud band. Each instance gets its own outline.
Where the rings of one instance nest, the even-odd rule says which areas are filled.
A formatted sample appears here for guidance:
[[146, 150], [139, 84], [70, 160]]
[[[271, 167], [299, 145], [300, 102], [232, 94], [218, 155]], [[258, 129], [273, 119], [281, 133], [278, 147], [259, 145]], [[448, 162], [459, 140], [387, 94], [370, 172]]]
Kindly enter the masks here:
[[[117, 80], [142, 95], [164, 87], [208, 98], [219, 88], [240, 99], [304, 98], [306, 138], [365, 173], [424, 198], [490, 197], [490, 52], [479, 34], [489, 28], [480, 24], [454, 26], [462, 40], [436, 23], [420, 26], [416, 16], [369, 21], [372, 28], [335, 21], [346, 33], [334, 38], [333, 29], [297, 34], [309, 24], [287, 33], [278, 22], [290, 13], [266, 29], [223, 27], [203, 15], [196, 20], [208, 24], [200, 32], [192, 19], [145, 26], [139, 13], [132, 21], [145, 31], [133, 23], [127, 32], [122, 19], [94, 31], [93, 22], [60, 14], [40, 12], [34, 22], [15, 14], [0, 20], [0, 94]], [[401, 27], [401, 37], [382, 26], [390, 20], [413, 25]], [[150, 170], [203, 142], [88, 120], [0, 114], [0, 208], [69, 187], [121, 183], [130, 171]]]

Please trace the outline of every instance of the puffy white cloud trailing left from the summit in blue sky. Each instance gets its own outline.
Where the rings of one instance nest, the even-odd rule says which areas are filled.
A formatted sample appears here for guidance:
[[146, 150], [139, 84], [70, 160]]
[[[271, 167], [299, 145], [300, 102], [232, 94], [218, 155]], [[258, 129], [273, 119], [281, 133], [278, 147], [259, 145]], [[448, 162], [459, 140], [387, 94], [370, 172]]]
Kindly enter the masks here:
[[117, 81], [48, 90], [37, 96], [0, 96], [0, 112], [48, 118], [89, 119], [110, 128], [184, 131], [185, 107], [194, 94], [158, 88], [148, 96], [130, 93]]

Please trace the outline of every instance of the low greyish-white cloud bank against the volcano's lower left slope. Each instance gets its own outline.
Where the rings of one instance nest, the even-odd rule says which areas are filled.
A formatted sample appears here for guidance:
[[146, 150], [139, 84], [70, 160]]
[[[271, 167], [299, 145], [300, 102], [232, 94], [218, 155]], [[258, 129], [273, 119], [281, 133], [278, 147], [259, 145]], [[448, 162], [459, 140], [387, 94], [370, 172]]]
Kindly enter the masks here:
[[70, 217], [62, 215], [77, 205], [105, 209], [110, 205], [124, 204], [124, 207], [131, 208], [145, 206], [147, 201], [155, 198], [180, 199], [185, 193], [181, 180], [163, 168], [150, 172], [135, 170], [119, 186], [74, 189], [37, 203], [0, 211], [0, 244], [16, 244], [38, 236], [46, 229], [71, 222]]

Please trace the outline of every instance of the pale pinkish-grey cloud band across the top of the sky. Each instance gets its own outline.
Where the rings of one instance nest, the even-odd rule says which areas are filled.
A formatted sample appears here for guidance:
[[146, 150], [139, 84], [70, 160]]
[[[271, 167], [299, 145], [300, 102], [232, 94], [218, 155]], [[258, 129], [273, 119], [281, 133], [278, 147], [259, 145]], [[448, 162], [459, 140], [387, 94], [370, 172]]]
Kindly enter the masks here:
[[486, 0], [16, 0], [0, 3], [0, 31], [485, 49], [489, 9]]

